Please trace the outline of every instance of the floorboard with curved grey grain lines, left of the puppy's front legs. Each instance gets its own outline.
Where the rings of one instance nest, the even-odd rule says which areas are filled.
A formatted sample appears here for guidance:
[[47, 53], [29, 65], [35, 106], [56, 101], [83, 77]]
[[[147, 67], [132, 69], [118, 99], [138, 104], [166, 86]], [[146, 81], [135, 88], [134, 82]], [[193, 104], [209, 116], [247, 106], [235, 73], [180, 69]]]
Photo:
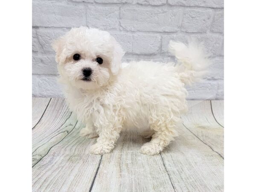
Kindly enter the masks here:
[[71, 118], [64, 99], [52, 99], [41, 121], [32, 129], [32, 165], [66, 137], [75, 123], [76, 119]]

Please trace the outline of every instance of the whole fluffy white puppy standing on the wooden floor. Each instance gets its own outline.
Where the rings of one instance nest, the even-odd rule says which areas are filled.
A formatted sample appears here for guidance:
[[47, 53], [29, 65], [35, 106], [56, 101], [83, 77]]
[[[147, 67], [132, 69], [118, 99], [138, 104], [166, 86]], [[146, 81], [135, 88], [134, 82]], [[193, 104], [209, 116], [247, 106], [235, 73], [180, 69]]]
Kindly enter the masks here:
[[178, 135], [175, 124], [187, 111], [186, 84], [201, 79], [209, 64], [202, 48], [169, 43], [178, 63], [121, 64], [124, 52], [105, 31], [73, 28], [53, 44], [67, 103], [86, 127], [80, 135], [98, 137], [93, 154], [113, 150], [123, 130], [152, 137], [140, 152], [158, 154]]

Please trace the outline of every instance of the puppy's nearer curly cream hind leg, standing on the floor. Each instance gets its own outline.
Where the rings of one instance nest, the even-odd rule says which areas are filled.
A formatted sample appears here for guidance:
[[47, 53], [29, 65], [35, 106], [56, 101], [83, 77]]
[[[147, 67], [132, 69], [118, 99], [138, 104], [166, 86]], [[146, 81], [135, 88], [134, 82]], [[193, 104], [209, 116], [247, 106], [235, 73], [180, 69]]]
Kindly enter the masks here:
[[159, 154], [178, 135], [175, 131], [175, 125], [170, 122], [152, 124], [151, 129], [155, 133], [152, 135], [151, 141], [140, 148], [140, 152], [143, 154]]

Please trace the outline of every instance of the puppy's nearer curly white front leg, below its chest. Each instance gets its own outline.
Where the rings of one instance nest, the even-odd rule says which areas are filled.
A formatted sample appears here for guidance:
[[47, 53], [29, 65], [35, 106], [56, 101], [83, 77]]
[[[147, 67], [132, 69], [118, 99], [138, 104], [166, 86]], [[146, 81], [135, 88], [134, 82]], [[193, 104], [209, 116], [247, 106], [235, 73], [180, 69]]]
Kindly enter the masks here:
[[102, 126], [99, 132], [97, 142], [90, 147], [90, 152], [93, 154], [110, 153], [115, 147], [115, 143], [119, 138], [121, 127], [115, 123], [108, 122]]

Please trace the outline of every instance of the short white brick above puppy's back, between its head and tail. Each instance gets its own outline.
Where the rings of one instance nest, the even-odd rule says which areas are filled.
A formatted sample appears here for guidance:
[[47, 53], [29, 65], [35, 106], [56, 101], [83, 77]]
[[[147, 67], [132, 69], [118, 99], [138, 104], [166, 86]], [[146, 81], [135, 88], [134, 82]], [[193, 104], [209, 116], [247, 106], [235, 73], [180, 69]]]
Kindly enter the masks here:
[[160, 35], [133, 35], [132, 52], [136, 54], [156, 54], [160, 49]]

